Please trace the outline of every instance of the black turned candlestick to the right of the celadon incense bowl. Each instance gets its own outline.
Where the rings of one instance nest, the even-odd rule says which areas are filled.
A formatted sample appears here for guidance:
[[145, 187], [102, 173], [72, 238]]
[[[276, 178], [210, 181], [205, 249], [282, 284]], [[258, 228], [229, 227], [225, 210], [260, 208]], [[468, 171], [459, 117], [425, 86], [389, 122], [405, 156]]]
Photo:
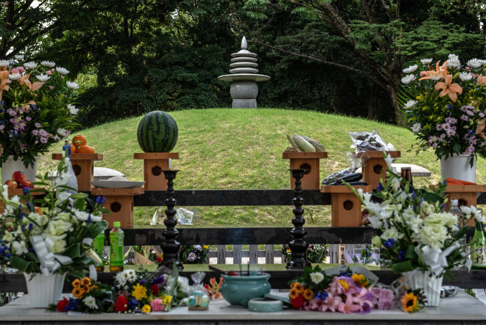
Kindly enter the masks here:
[[304, 209], [302, 209], [302, 204], [304, 204], [304, 199], [301, 198], [302, 188], [300, 187], [301, 178], [304, 177], [304, 169], [289, 169], [292, 172], [292, 175], [295, 178], [295, 190], [294, 195], [294, 217], [292, 218], [292, 223], [294, 227], [290, 230], [290, 234], [292, 238], [294, 238], [290, 243], [289, 247], [291, 250], [292, 258], [287, 263], [286, 268], [288, 270], [295, 270], [295, 269], [303, 269], [304, 266], [310, 266], [310, 262], [307, 260], [307, 247], [308, 244], [304, 240], [305, 235], [307, 235], [307, 231], [302, 227], [305, 223], [304, 217], [302, 214], [304, 213]]

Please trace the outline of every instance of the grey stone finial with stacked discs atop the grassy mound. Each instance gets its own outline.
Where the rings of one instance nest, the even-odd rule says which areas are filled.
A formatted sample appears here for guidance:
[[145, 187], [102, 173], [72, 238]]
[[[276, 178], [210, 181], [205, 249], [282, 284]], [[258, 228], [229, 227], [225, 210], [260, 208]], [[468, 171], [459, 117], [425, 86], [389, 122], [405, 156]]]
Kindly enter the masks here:
[[241, 50], [231, 54], [231, 74], [219, 76], [219, 80], [230, 81], [230, 94], [233, 99], [233, 108], [256, 108], [258, 95], [258, 81], [267, 81], [269, 76], [257, 74], [258, 67], [256, 54], [247, 50], [247, 38], [241, 40]]

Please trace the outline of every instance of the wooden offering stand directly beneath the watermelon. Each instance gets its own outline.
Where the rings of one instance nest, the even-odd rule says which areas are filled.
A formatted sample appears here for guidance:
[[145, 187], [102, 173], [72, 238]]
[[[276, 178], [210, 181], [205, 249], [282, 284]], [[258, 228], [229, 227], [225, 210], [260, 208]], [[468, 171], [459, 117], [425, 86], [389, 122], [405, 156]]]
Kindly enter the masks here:
[[144, 152], [133, 154], [134, 159], [143, 159], [145, 191], [166, 191], [167, 179], [164, 170], [169, 170], [169, 159], [179, 159], [177, 152]]

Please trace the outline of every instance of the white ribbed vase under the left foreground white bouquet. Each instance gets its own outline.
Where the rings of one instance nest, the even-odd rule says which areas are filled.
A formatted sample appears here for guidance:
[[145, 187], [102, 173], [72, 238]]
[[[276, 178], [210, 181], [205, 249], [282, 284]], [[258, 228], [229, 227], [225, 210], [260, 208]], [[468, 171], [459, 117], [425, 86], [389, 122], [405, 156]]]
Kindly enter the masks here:
[[61, 300], [66, 273], [54, 273], [47, 276], [42, 273], [24, 273], [24, 277], [25, 282], [27, 283], [30, 307], [47, 308], [49, 305], [55, 304]]

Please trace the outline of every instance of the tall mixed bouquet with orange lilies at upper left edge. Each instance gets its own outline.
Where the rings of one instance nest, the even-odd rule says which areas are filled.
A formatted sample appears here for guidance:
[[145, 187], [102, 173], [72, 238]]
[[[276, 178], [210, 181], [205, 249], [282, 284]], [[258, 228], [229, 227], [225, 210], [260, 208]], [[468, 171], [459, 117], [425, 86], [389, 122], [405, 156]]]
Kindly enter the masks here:
[[67, 81], [69, 71], [54, 62], [15, 58], [0, 60], [0, 167], [10, 155], [32, 167], [38, 154], [77, 125], [72, 101], [78, 85]]

